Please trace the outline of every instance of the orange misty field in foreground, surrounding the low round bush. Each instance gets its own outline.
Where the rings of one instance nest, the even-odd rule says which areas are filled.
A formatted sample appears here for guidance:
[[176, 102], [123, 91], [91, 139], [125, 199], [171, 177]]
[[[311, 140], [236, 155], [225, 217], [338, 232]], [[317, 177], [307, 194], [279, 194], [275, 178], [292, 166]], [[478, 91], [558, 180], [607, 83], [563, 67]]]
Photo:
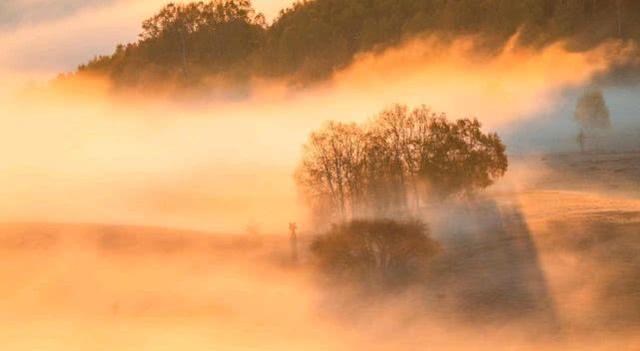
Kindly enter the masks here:
[[639, 159], [545, 156], [533, 185], [427, 211], [445, 250], [424, 286], [382, 300], [333, 296], [306, 255], [292, 264], [285, 236], [5, 224], [0, 342], [11, 350], [468, 349], [481, 341], [492, 350], [637, 349], [640, 199], [616, 190], [633, 184]]

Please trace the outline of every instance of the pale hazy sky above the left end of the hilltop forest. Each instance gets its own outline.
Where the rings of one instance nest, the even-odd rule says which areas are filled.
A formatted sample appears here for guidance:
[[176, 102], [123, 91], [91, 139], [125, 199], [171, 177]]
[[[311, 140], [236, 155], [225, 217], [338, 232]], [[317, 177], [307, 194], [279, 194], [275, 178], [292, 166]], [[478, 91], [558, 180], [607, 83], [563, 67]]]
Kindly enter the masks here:
[[[0, 0], [0, 66], [27, 75], [73, 70], [118, 43], [167, 0]], [[254, 0], [273, 18], [291, 0]]]

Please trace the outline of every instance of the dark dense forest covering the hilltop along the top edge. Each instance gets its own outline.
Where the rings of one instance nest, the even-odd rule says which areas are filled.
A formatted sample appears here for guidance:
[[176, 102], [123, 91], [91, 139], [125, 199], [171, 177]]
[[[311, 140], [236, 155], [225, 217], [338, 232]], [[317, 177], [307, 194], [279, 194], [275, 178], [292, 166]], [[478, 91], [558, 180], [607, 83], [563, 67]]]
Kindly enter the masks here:
[[637, 0], [312, 0], [267, 23], [249, 0], [169, 4], [144, 21], [139, 40], [78, 68], [119, 86], [199, 86], [249, 77], [326, 78], [363, 51], [437, 33], [478, 34], [499, 48], [566, 40], [584, 50], [611, 38], [640, 40]]

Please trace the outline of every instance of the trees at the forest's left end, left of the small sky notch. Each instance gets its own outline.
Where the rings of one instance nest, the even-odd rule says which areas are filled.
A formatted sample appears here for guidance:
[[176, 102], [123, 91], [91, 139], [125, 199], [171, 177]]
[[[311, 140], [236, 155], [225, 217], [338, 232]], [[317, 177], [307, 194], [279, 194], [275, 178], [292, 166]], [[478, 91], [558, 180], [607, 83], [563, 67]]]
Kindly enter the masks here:
[[225, 75], [246, 77], [266, 25], [249, 0], [170, 3], [142, 24], [139, 41], [78, 67], [124, 86], [185, 85]]

